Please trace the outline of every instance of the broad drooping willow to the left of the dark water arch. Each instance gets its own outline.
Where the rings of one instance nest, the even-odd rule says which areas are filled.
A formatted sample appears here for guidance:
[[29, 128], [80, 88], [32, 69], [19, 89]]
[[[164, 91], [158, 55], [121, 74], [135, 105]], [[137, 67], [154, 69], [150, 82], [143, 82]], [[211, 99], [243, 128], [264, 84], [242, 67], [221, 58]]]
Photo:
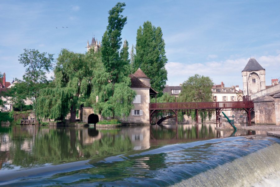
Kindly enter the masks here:
[[54, 69], [54, 87], [40, 90], [37, 114], [63, 119], [70, 112], [70, 122], [74, 122], [79, 98], [89, 97], [91, 93], [93, 69], [97, 64], [98, 60], [92, 56], [61, 50]]

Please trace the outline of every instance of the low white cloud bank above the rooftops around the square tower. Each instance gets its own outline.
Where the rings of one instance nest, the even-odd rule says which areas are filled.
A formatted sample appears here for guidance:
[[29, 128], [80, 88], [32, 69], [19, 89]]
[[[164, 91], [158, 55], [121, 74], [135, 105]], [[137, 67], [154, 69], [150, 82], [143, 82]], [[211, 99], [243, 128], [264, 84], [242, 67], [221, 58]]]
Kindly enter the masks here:
[[[250, 58], [228, 59], [224, 61], [208, 61], [203, 63], [184, 64], [182, 62], [168, 62], [169, 85], [179, 85], [194, 74], [209, 76], [215, 84], [223, 81], [226, 86], [239, 85], [242, 88], [241, 71]], [[256, 57], [259, 64], [266, 70], [266, 85], [270, 85], [271, 78], [278, 78], [280, 71], [280, 54], [277, 56]]]

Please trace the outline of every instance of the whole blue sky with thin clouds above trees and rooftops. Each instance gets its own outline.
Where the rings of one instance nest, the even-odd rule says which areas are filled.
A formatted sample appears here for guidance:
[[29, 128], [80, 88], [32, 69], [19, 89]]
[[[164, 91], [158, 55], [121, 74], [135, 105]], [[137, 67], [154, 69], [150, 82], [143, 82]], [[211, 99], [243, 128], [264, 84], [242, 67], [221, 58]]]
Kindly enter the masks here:
[[[63, 48], [85, 53], [87, 40], [101, 41], [108, 11], [118, 1], [0, 1], [0, 71], [6, 80], [22, 78], [18, 56], [38, 49], [58, 56]], [[122, 32], [131, 48], [149, 20], [166, 43], [168, 85], [189, 76], [209, 76], [215, 84], [240, 85], [250, 57], [266, 70], [266, 85], [280, 78], [280, 1], [130, 0]], [[57, 28], [56, 28], [57, 27]], [[68, 28], [63, 28], [68, 27]]]

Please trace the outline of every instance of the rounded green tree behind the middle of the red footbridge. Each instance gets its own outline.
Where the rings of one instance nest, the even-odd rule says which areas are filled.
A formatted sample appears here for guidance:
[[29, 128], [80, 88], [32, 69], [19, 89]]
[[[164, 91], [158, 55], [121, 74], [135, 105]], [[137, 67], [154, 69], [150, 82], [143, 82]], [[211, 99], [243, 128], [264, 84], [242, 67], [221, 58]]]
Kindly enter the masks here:
[[[213, 82], [208, 76], [201, 76], [195, 74], [189, 77], [188, 80], [182, 84], [182, 90], [179, 95], [180, 102], [212, 102], [212, 86]], [[196, 112], [188, 113], [192, 119], [195, 118]], [[212, 116], [212, 112], [199, 111], [199, 116], [202, 122], [208, 117]]]

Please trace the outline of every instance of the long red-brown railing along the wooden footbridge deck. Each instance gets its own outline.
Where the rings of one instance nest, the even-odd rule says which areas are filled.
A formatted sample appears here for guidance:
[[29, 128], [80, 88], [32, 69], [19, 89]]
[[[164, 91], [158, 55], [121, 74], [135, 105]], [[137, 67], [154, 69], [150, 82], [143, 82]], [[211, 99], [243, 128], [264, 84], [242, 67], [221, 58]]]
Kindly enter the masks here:
[[254, 108], [252, 101], [197, 102], [197, 103], [149, 103], [149, 110]]

